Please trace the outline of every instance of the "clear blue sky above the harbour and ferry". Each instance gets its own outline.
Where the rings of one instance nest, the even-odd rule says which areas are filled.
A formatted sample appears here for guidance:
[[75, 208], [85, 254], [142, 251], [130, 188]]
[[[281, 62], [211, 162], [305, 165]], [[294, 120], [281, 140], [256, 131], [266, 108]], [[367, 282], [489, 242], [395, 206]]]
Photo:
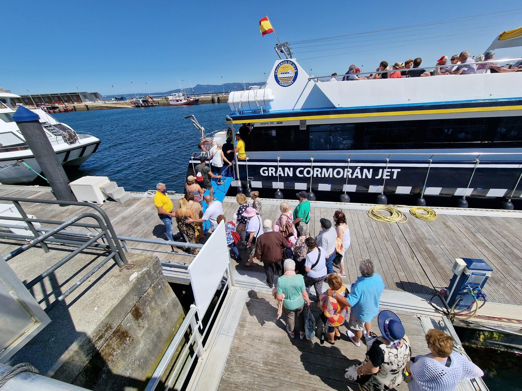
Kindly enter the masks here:
[[[18, 94], [78, 88], [106, 95], [132, 93], [131, 81], [136, 92], [179, 88], [178, 79], [184, 79], [183, 87], [189, 79], [193, 85], [264, 81], [264, 72], [268, 74], [277, 58], [276, 36], [262, 37], [259, 32], [259, 19], [265, 13], [280, 39], [294, 42], [517, 8], [516, 2], [491, 0], [343, 4], [91, 0], [44, 6], [36, 1], [2, 2], [0, 87]], [[520, 26], [522, 9], [418, 28], [422, 31], [408, 36], [388, 30], [325, 42], [341, 45], [300, 50], [298, 46], [304, 44], [294, 45], [298, 53], [294, 57], [303, 68], [312, 68], [314, 75], [344, 73], [352, 63], [371, 71], [381, 60], [393, 64], [415, 57], [422, 57], [428, 66], [442, 55], [463, 50], [483, 53], [499, 32]], [[389, 40], [377, 40], [386, 37]], [[299, 53], [333, 47], [346, 48]], [[338, 53], [350, 54], [304, 59]], [[520, 55], [520, 48], [496, 51], [496, 58]]]

